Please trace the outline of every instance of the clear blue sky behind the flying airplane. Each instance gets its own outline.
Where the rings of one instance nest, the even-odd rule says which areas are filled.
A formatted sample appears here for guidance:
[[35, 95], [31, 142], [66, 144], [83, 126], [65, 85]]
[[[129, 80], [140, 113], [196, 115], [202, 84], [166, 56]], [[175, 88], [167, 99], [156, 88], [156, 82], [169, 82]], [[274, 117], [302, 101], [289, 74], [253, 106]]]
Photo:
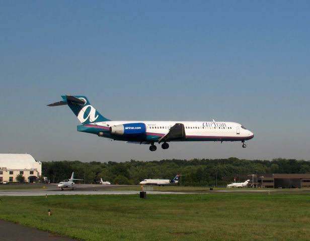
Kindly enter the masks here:
[[[36, 160], [310, 160], [308, 1], [0, 1], [0, 153]], [[76, 132], [60, 95], [113, 120], [231, 121], [255, 138], [168, 150]]]

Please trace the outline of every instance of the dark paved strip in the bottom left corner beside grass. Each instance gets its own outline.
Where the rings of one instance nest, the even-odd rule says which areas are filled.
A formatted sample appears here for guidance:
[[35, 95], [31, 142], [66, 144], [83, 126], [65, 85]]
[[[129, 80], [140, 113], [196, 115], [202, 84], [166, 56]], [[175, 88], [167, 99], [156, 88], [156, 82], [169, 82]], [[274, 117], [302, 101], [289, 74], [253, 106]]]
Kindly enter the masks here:
[[76, 241], [13, 222], [0, 220], [1, 241]]

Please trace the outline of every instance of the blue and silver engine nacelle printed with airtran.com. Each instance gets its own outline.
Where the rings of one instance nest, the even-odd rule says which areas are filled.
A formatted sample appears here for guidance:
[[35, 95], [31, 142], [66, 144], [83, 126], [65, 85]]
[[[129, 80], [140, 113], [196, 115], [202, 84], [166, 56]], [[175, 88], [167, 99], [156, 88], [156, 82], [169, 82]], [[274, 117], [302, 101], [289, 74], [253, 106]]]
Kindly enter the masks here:
[[144, 123], [129, 123], [110, 127], [111, 135], [118, 136], [142, 136], [145, 135], [146, 127]]

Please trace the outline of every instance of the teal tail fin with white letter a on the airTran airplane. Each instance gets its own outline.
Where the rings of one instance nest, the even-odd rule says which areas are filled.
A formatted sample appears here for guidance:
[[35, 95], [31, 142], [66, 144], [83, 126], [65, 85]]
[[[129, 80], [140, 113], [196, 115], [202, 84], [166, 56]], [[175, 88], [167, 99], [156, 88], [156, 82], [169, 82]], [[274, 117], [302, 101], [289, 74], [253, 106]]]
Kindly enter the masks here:
[[48, 104], [48, 106], [69, 105], [73, 113], [82, 124], [90, 124], [94, 122], [107, 122], [107, 119], [101, 115], [93, 105], [88, 101], [86, 96], [82, 95], [62, 95], [62, 100]]

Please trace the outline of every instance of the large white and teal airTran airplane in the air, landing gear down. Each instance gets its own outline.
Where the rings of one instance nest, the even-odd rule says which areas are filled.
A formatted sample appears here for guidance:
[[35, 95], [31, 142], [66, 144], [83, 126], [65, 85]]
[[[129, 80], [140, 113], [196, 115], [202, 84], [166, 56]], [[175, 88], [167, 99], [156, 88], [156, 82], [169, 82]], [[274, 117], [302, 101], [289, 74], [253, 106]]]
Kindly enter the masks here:
[[214, 141], [245, 142], [254, 134], [244, 126], [234, 122], [173, 122], [173, 121], [111, 121], [101, 115], [91, 105], [86, 96], [63, 95], [62, 100], [48, 106], [68, 105], [82, 125], [78, 132], [98, 135], [115, 141], [134, 144], [147, 144], [150, 151], [156, 151], [155, 143], [168, 149], [168, 142]]

